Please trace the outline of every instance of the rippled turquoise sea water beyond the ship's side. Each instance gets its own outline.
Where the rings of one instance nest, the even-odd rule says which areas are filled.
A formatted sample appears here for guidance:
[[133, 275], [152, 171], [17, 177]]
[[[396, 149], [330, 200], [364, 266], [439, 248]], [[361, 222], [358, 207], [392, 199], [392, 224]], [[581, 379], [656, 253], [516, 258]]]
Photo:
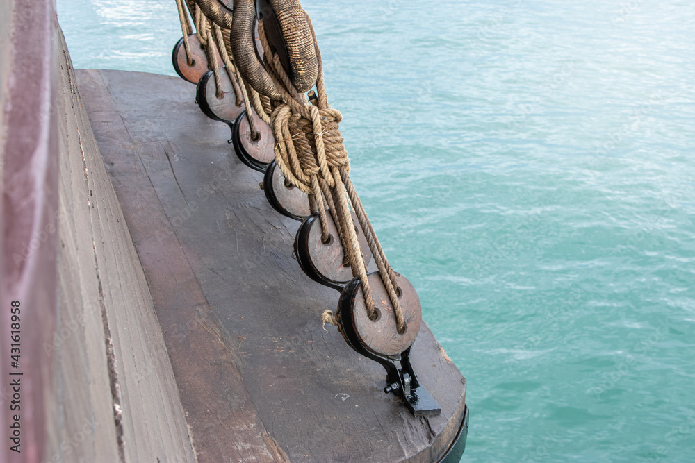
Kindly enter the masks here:
[[[464, 461], [695, 462], [694, 4], [302, 4]], [[58, 12], [76, 67], [174, 75], [174, 0]]]

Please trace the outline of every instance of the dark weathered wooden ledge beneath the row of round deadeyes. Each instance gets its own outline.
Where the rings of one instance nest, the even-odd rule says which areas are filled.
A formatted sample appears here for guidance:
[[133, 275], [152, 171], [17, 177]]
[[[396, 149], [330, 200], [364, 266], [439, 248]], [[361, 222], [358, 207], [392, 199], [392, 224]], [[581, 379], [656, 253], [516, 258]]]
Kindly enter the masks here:
[[262, 174], [179, 78], [77, 71], [136, 245], [199, 462], [430, 462], [455, 437], [465, 380], [424, 325], [412, 361], [442, 406], [414, 418], [381, 366], [320, 312], [338, 292], [291, 253], [299, 222], [274, 212]]

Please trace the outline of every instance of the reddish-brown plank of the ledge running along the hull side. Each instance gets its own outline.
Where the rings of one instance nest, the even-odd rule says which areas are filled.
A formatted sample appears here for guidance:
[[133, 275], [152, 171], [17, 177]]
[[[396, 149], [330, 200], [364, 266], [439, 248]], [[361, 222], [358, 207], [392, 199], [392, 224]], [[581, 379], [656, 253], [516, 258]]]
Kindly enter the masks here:
[[[88, 95], [92, 126], [99, 133], [101, 152], [115, 187], [126, 191], [133, 208], [129, 226], [158, 308], [172, 367], [181, 390], [198, 462], [283, 461], [265, 443], [263, 424], [234, 367], [233, 353], [211, 313], [170, 228], [133, 140], [122, 140], [124, 126], [105, 90], [99, 71], [79, 74], [81, 93]], [[149, 120], [143, 119], [145, 129]], [[150, 137], [152, 138], [152, 137]], [[113, 142], [111, 142], [113, 140]], [[166, 145], [153, 140], [150, 146]], [[149, 201], [154, 199], [154, 201]], [[267, 436], [266, 436], [266, 439]]]

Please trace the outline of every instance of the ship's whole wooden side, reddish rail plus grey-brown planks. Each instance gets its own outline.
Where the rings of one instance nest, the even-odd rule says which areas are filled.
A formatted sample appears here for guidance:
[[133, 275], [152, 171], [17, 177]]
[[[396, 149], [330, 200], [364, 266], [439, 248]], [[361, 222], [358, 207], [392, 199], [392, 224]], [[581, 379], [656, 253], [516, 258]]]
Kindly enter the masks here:
[[[0, 462], [195, 462], [54, 2], [0, 13]], [[8, 362], [10, 301], [21, 302], [19, 369]], [[10, 371], [22, 373], [15, 412]], [[8, 445], [14, 414], [19, 453]]]

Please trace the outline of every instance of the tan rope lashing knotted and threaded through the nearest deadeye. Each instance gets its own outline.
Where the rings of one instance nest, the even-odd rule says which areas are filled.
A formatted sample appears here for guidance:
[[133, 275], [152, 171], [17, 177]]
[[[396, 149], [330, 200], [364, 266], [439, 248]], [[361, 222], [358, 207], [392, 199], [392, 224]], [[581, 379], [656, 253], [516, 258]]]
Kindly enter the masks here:
[[[405, 323], [398, 301], [398, 284], [395, 280], [395, 272], [386, 260], [350, 180], [350, 160], [347, 157], [339, 128], [339, 123], [343, 117], [338, 110], [329, 108], [316, 34], [313, 31], [311, 20], [306, 13], [304, 15], [311, 31], [311, 40], [316, 51], [318, 65], [316, 99], [311, 99], [311, 101], [307, 100], [306, 94], [297, 90], [297, 87], [293, 85], [278, 54], [268, 43], [263, 22], [259, 22], [258, 25], [259, 37], [263, 45], [265, 69], [268, 70], [268, 77], [272, 84], [271, 90], [265, 95], [272, 100], [272, 106], [275, 108], [270, 116], [270, 125], [276, 140], [275, 160], [288, 183], [300, 188], [313, 199], [321, 223], [322, 239], [326, 238], [327, 233], [325, 203], [328, 203], [328, 210], [338, 229], [343, 251], [350, 263], [352, 273], [354, 276], [358, 276], [361, 281], [367, 314], [373, 318], [375, 317], [374, 301], [368, 283], [366, 264], [350, 214], [350, 204], [352, 204], [363, 233], [367, 237], [370, 251], [375, 255], [375, 263], [394, 308], [397, 329], [402, 332]], [[279, 17], [279, 20], [282, 21], [282, 17]], [[291, 42], [285, 41], [288, 47], [291, 47]], [[288, 54], [291, 56], [290, 51]], [[263, 88], [256, 90], [263, 94]], [[273, 96], [278, 93], [281, 94], [281, 99]], [[322, 185], [324, 185], [323, 188]], [[322, 321], [335, 323], [336, 319], [332, 312], [326, 311], [322, 314]]]

